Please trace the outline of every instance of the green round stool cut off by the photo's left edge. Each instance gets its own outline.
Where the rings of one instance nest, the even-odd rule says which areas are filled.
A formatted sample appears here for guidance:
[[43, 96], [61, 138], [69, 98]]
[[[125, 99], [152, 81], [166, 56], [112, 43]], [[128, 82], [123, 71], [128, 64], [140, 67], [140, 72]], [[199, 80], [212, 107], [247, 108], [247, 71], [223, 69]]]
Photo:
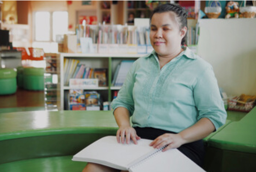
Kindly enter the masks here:
[[16, 76], [14, 69], [0, 69], [0, 95], [10, 95], [17, 91]]

